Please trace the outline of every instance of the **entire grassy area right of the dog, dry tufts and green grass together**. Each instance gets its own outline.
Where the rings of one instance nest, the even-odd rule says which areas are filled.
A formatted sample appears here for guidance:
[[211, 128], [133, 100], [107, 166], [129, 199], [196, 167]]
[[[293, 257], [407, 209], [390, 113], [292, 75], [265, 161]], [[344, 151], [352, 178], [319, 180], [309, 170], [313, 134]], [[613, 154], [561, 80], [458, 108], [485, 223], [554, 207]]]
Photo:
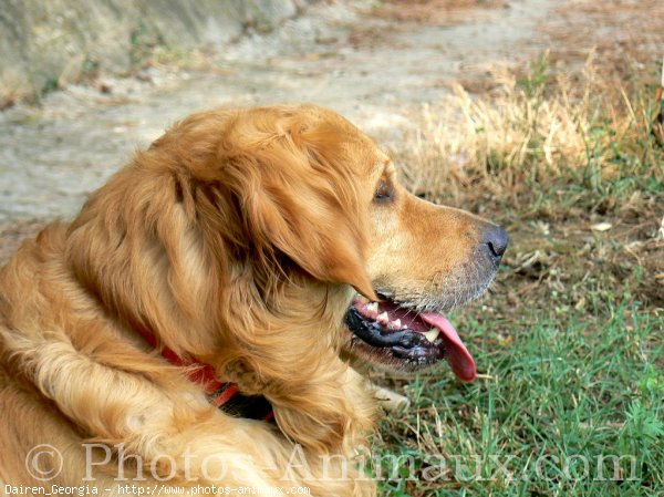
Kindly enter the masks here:
[[574, 79], [546, 58], [502, 81], [424, 108], [396, 156], [414, 191], [504, 224], [511, 242], [492, 291], [453, 317], [474, 383], [445, 364], [376, 373], [412, 406], [382, 421], [374, 473], [386, 496], [662, 497], [654, 91], [611, 86], [591, 66]]

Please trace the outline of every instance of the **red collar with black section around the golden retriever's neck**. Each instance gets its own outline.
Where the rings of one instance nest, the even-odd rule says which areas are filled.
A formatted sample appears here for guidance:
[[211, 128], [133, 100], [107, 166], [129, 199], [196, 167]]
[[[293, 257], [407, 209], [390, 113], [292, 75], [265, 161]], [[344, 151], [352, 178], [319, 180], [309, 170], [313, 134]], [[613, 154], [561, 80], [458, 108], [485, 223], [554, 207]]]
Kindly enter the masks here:
[[[157, 339], [149, 330], [139, 328], [138, 332], [152, 348], [157, 348]], [[188, 379], [194, 383], [198, 383], [205, 391], [210, 404], [224, 412], [236, 417], [248, 417], [250, 420], [269, 422], [274, 418], [272, 406], [263, 396], [245, 395], [240, 393], [237, 383], [220, 382], [210, 364], [183, 359], [167, 346], [162, 348], [162, 356], [176, 366], [188, 367]]]

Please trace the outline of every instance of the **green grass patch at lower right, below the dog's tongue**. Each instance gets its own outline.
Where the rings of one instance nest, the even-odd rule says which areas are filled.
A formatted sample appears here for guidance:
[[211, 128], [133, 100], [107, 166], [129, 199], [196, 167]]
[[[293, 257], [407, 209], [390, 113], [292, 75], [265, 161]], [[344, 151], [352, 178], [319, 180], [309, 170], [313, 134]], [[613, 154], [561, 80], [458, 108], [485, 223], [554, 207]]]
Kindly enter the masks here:
[[385, 495], [661, 496], [663, 320], [605, 303], [606, 319], [466, 317], [480, 377], [463, 385], [442, 366], [406, 386], [412, 407], [383, 421], [376, 445], [412, 462], [381, 483]]

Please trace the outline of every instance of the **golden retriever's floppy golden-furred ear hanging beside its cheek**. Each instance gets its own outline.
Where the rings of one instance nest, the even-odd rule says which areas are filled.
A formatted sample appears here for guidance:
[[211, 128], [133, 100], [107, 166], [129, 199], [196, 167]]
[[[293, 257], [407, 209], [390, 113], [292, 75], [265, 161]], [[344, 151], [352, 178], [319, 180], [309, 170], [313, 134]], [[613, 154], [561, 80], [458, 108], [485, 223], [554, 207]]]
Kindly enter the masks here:
[[366, 215], [350, 172], [322, 164], [290, 134], [245, 141], [241, 152], [234, 135], [218, 158], [251, 249], [284, 255], [315, 279], [351, 284], [377, 300], [365, 267]]

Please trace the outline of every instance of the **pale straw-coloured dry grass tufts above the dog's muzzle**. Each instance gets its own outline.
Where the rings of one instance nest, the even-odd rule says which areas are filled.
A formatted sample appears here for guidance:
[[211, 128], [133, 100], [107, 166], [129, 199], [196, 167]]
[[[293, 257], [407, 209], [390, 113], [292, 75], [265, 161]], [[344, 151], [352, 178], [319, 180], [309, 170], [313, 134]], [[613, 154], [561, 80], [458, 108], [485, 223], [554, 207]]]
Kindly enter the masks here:
[[[642, 175], [664, 180], [664, 155], [651, 136], [653, 99], [605, 85], [594, 59], [580, 83], [547, 59], [520, 80], [506, 71], [494, 77], [490, 94], [474, 96], [457, 85], [423, 107], [419, 130], [400, 157], [412, 189], [458, 201], [480, 188], [517, 203], [535, 190], [580, 187], [578, 194], [599, 201], [591, 207], [602, 214], [637, 207], [633, 203], [650, 194], [615, 190], [615, 182]], [[627, 193], [636, 195], [625, 198]]]

